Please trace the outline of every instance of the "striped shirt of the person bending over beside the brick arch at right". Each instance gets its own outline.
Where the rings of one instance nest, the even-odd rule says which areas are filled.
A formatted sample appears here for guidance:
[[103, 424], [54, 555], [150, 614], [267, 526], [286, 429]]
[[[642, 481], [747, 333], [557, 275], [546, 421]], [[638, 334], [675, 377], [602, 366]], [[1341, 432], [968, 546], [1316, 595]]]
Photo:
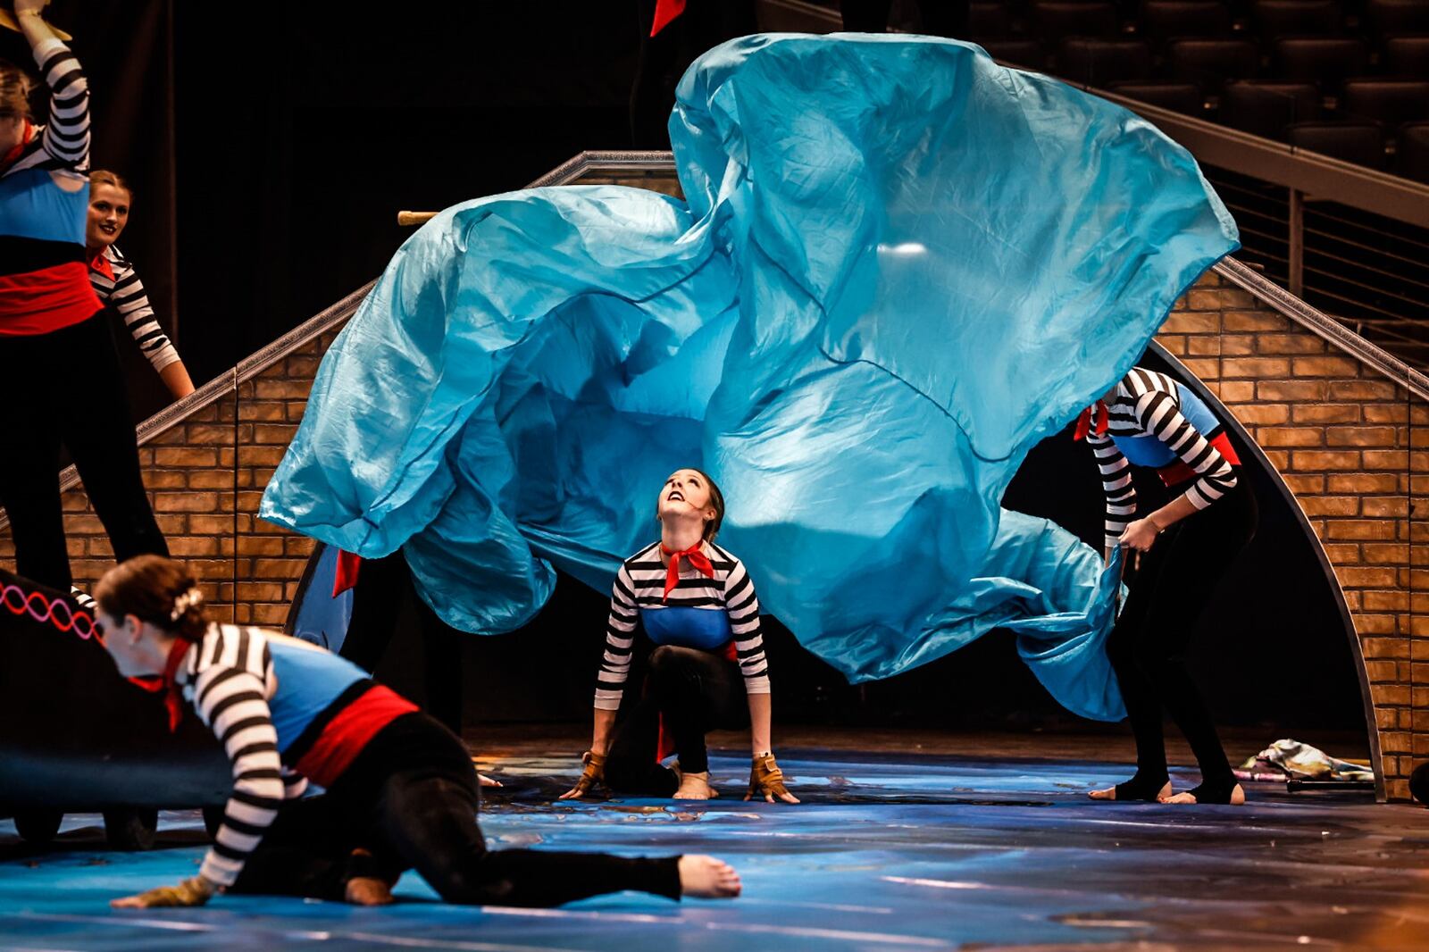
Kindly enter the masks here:
[[[1212, 432], [1213, 417], [1209, 410], [1198, 403], [1198, 416], [1202, 416], [1202, 429], [1192, 425], [1182, 413], [1183, 392], [1172, 377], [1143, 367], [1132, 370], [1116, 385], [1116, 397], [1107, 405], [1107, 432], [1096, 435], [1093, 427], [1086, 436], [1096, 453], [1097, 467], [1102, 470], [1102, 489], [1106, 495], [1106, 546], [1116, 547], [1127, 523], [1136, 516], [1136, 486], [1132, 483], [1132, 462], [1145, 465], [1162, 465], [1149, 462], [1133, 447], [1137, 440], [1155, 439], [1167, 450], [1166, 462], [1179, 457], [1189, 466], [1196, 480], [1186, 490], [1186, 499], [1196, 509], [1205, 509], [1236, 486], [1236, 470], [1212, 446], [1210, 439], [1218, 436]], [[1219, 430], [1219, 426], [1215, 427]], [[1120, 440], [1122, 446], [1117, 446]], [[1127, 460], [1127, 455], [1133, 460]]]

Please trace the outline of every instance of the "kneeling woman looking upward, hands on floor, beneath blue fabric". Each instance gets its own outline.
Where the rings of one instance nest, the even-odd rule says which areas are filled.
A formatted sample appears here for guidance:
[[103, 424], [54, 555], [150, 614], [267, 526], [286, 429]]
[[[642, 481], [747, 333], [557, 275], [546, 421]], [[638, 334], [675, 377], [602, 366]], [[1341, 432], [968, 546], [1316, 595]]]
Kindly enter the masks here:
[[[745, 799], [797, 803], [770, 752], [769, 665], [755, 583], [739, 559], [714, 545], [725, 497], [709, 476], [682, 469], [666, 480], [656, 513], [660, 542], [616, 573], [594, 736], [580, 780], [562, 799], [583, 796], [602, 780], [622, 793], [717, 796], [709, 785], [704, 735], [749, 726], [753, 763]], [[640, 699], [616, 725], [636, 622], [656, 649]], [[680, 755], [674, 769], [660, 766], [667, 748]]]

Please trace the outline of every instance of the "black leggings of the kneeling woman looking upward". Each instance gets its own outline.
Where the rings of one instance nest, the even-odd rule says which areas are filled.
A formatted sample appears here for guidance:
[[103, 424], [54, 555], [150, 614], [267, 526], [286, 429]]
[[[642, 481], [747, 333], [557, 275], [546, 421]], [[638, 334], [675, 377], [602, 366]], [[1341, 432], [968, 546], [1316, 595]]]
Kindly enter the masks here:
[[694, 648], [662, 645], [650, 652], [644, 693], [610, 739], [606, 783], [612, 790], [670, 796], [679, 789], [674, 772], [656, 760], [662, 715], [680, 755], [680, 769], [709, 770], [704, 735], [716, 728], [749, 726], [749, 698], [739, 665]]

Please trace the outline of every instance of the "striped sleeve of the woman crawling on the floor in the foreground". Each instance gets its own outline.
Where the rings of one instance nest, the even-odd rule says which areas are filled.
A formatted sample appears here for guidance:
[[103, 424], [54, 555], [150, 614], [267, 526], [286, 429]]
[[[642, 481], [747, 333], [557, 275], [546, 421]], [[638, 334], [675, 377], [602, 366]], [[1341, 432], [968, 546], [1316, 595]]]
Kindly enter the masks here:
[[233, 765], [223, 825], [199, 869], [204, 879], [231, 886], [283, 800], [307, 789], [307, 778], [283, 766], [279, 755], [269, 710], [277, 678], [267, 635], [256, 628], [210, 625], [180, 660], [174, 679]]

